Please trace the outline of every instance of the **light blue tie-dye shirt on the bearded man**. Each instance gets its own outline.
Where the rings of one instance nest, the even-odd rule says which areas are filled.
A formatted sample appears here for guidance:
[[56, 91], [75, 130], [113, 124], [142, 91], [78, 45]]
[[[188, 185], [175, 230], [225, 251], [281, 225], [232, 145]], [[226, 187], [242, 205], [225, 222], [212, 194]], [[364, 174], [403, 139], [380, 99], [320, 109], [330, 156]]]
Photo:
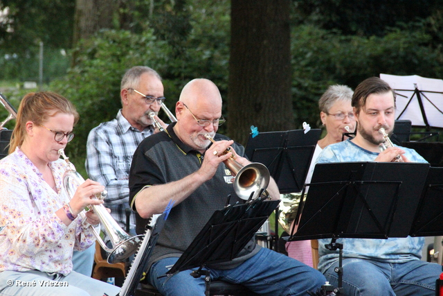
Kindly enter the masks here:
[[[413, 149], [401, 147], [410, 162], [426, 162]], [[347, 140], [327, 146], [318, 156], [317, 163], [323, 162], [373, 162], [379, 153], [365, 150], [352, 141]], [[330, 238], [318, 241], [318, 270], [325, 272], [329, 266], [338, 260], [338, 250], [331, 252], [325, 248], [330, 243]], [[337, 243], [343, 243], [343, 258], [361, 258], [381, 262], [401, 263], [422, 258], [424, 238], [388, 238], [388, 239], [363, 239], [339, 238]]]

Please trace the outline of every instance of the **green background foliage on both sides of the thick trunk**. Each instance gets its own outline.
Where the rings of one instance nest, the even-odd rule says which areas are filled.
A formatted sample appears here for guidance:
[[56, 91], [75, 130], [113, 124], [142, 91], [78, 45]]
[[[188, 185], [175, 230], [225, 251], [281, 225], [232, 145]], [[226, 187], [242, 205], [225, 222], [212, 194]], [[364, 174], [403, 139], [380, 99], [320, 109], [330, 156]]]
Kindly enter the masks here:
[[[17, 3], [25, 5], [25, 2]], [[404, 1], [399, 2], [404, 6], [409, 5]], [[55, 3], [59, 5], [62, 2]], [[120, 12], [128, 16], [129, 28], [103, 30], [90, 40], [77, 44], [69, 52], [69, 56], [75, 56], [75, 61], [67, 73], [64, 73], [67, 58], [60, 55], [60, 51], [45, 45], [45, 61], [50, 64], [45, 65], [44, 73], [59, 77], [47, 89], [71, 99], [80, 113], [80, 122], [74, 130], [75, 138], [67, 149], [67, 154], [79, 171], [84, 167], [89, 131], [103, 121], [114, 119], [120, 108], [120, 79], [130, 67], [147, 65], [160, 73], [165, 85], [165, 104], [170, 110], [173, 110], [183, 85], [193, 78], [213, 80], [222, 96], [227, 98], [229, 0], [217, 1], [217, 5], [205, 0], [138, 0], [125, 3], [128, 7], [120, 8]], [[152, 15], [150, 3], [154, 3]], [[294, 116], [298, 128], [301, 128], [303, 121], [312, 128], [320, 126], [317, 102], [329, 85], [344, 84], [354, 89], [365, 78], [379, 76], [379, 73], [442, 78], [442, 10], [417, 11], [417, 15], [425, 13], [430, 16], [415, 22], [404, 17], [409, 12], [399, 10], [400, 16], [394, 14], [395, 17], [392, 17], [394, 22], [386, 19], [379, 23], [377, 17], [383, 15], [382, 10], [388, 6], [377, 7], [372, 3], [371, 9], [376, 7], [379, 15], [375, 19], [366, 17], [360, 26], [361, 15], [371, 15], [368, 11], [372, 10], [365, 6], [368, 3], [360, 3], [358, 7], [340, 0], [294, 3], [298, 5], [298, 10], [293, 12], [291, 26], [291, 66]], [[325, 3], [327, 10], [325, 6], [319, 6]], [[395, 4], [392, 1], [386, 3]], [[432, 4], [425, 0], [420, 3], [423, 8]], [[300, 6], [304, 6], [304, 10]], [[360, 6], [364, 6], [364, 9]], [[300, 17], [303, 14], [305, 17]], [[35, 22], [36, 26], [39, 21]], [[341, 22], [350, 26], [350, 31], [344, 31]], [[325, 24], [329, 24], [329, 27]], [[381, 33], [368, 33], [366, 26], [369, 28], [370, 25]], [[57, 25], [52, 26], [57, 28]], [[60, 23], [61, 26], [63, 23]], [[37, 60], [32, 57], [37, 56], [38, 46], [23, 47], [27, 51], [17, 58], [17, 64], [0, 60], [3, 75], [8, 73], [8, 77], [16, 81], [37, 77]], [[8, 51], [2, 48], [1, 56], [4, 53]], [[0, 78], [4, 78], [1, 75]], [[3, 93], [18, 107], [19, 99], [26, 92], [21, 89]], [[223, 114], [229, 120], [228, 107], [242, 106], [224, 104]], [[0, 118], [3, 115], [6, 116], [6, 112], [0, 110]], [[168, 121], [163, 114], [161, 116]], [[226, 133], [225, 128], [222, 125], [220, 131]]]

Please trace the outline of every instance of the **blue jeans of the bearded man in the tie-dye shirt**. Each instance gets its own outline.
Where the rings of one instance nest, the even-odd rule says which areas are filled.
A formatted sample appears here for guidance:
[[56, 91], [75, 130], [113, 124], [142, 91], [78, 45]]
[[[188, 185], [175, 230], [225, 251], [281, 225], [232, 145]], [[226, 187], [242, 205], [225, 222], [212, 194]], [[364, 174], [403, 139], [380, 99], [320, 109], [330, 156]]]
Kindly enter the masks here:
[[[334, 268], [338, 261], [325, 272], [325, 277], [338, 285]], [[406, 263], [382, 263], [365, 259], [343, 260], [343, 293], [347, 296], [388, 295], [435, 295], [435, 280], [439, 279], [442, 266], [412, 260]]]

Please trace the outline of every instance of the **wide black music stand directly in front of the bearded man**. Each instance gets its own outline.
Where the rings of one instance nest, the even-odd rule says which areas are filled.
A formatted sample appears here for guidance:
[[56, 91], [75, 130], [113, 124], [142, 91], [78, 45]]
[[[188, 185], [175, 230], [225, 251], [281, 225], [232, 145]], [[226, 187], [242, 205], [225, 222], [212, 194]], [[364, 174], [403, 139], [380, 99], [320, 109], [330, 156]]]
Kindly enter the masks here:
[[343, 245], [336, 239], [408, 236], [428, 170], [426, 163], [317, 164], [289, 241], [332, 238], [326, 247], [339, 250], [340, 292]]

